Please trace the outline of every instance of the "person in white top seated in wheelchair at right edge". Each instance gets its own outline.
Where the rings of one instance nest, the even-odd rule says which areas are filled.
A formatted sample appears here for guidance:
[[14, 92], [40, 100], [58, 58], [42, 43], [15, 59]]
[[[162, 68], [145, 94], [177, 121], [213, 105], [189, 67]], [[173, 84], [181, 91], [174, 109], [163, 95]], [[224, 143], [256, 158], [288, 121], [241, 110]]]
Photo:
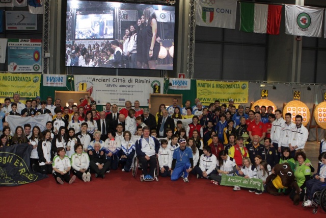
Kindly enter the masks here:
[[306, 183], [306, 196], [308, 198], [304, 203], [305, 207], [311, 206], [312, 198], [316, 191], [320, 191], [326, 188], [326, 152], [321, 153], [318, 157], [318, 160], [322, 162], [319, 168], [319, 172], [314, 174], [313, 179], [308, 180]]

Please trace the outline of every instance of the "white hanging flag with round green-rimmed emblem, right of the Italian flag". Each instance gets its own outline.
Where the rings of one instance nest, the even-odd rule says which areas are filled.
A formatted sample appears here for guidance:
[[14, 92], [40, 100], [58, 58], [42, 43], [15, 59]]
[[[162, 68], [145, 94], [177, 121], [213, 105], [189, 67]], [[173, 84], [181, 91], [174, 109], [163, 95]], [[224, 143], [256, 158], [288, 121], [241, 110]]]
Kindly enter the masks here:
[[321, 37], [323, 8], [285, 5], [285, 33], [294, 36]]

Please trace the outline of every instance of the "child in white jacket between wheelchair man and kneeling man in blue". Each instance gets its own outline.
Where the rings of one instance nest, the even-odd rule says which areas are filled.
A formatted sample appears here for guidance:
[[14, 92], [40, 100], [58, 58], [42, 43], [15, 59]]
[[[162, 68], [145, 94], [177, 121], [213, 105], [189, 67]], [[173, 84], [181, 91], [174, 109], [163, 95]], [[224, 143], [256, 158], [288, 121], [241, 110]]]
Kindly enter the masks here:
[[171, 175], [171, 151], [168, 148], [168, 141], [166, 139], [162, 139], [161, 147], [158, 150], [158, 164], [159, 164], [159, 174], [161, 177], [167, 177]]

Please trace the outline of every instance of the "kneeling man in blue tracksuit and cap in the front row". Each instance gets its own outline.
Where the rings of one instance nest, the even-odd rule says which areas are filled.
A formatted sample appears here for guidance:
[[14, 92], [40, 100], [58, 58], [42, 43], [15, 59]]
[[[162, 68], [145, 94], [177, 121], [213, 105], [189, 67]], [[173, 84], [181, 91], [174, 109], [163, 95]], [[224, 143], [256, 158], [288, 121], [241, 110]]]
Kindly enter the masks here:
[[188, 174], [194, 167], [193, 151], [186, 147], [184, 138], [181, 138], [179, 143], [180, 146], [173, 153], [171, 180], [176, 181], [182, 176], [184, 182], [189, 182]]

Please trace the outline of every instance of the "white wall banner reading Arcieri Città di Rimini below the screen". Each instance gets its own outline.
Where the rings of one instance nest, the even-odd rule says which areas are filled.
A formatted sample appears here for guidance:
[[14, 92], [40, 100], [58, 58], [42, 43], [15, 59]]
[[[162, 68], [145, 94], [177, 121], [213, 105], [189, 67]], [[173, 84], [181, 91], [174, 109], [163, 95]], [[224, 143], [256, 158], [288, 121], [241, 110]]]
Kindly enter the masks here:
[[164, 78], [75, 75], [75, 91], [89, 91], [97, 105], [124, 105], [136, 100], [148, 106], [150, 93], [163, 93]]

